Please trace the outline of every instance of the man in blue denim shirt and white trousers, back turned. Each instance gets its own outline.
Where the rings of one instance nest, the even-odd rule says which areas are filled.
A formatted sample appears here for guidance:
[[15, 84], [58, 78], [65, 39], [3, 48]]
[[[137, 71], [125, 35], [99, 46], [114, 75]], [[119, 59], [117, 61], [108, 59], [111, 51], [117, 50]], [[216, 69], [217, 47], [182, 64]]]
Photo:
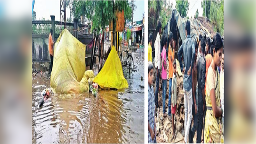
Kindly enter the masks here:
[[[186, 36], [187, 38], [184, 40], [180, 49], [178, 51], [178, 59], [180, 62], [180, 69], [183, 70], [183, 90], [184, 90], [184, 105], [185, 105], [185, 143], [188, 141], [189, 129], [192, 119], [192, 68], [195, 60], [195, 45], [194, 41], [190, 36], [190, 21], [186, 22]], [[183, 54], [184, 66], [181, 61], [181, 54]]]

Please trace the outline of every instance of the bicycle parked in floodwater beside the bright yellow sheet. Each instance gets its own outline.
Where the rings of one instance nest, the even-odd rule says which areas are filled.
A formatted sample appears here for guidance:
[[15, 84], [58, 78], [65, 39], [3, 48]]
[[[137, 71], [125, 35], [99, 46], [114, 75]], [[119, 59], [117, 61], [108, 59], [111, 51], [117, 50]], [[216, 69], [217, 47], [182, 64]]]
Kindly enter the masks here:
[[[123, 52], [126, 53], [126, 59], [123, 57]], [[134, 63], [133, 63], [132, 53], [129, 53], [129, 47], [127, 47], [126, 50], [123, 50], [122, 48], [119, 58], [120, 58], [124, 73], [126, 72], [131, 74], [133, 72]]]

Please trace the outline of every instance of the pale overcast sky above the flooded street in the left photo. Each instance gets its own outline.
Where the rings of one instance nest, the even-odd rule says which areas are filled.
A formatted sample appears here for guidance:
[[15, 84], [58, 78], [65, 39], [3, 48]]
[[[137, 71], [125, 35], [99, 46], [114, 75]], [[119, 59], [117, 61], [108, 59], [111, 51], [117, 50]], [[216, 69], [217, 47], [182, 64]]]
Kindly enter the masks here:
[[[129, 0], [130, 2], [131, 0]], [[142, 20], [144, 13], [144, 0], [136, 0], [133, 21]], [[50, 20], [50, 15], [55, 16], [55, 20], [60, 21], [60, 1], [59, 0], [36, 0], [34, 11], [37, 13], [37, 20], [45, 18]], [[70, 18], [69, 8], [66, 8], [66, 18]]]

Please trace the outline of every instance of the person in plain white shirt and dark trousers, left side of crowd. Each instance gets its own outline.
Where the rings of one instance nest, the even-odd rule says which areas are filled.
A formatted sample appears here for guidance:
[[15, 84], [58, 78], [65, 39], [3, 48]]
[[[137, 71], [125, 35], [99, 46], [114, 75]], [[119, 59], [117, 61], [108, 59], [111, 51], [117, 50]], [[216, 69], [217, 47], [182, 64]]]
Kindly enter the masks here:
[[160, 34], [161, 34], [161, 22], [158, 21], [157, 22], [157, 36], [156, 36], [156, 40], [155, 40], [155, 68], [156, 68], [156, 90], [155, 90], [155, 106], [156, 108], [159, 107], [158, 105], [158, 91], [159, 91], [159, 69], [160, 69], [160, 63], [161, 63], [161, 45], [160, 45]]

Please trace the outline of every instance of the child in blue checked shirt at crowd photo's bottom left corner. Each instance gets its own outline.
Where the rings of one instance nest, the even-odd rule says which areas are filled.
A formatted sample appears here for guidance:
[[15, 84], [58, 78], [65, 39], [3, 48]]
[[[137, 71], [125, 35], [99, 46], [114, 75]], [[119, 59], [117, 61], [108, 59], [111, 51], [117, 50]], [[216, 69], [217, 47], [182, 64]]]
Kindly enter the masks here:
[[153, 88], [153, 64], [148, 62], [148, 143], [156, 143], [155, 102]]

